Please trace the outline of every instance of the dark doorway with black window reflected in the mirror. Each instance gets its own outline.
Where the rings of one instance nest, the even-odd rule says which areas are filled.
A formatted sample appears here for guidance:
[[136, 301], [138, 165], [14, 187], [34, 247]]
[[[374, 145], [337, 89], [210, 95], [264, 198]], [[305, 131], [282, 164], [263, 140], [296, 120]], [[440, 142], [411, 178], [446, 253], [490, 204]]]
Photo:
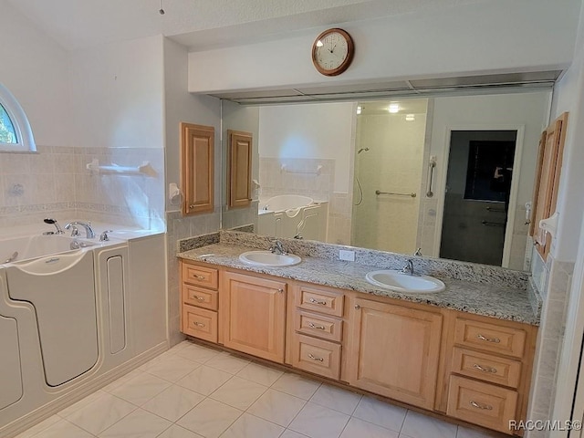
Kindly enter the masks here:
[[440, 257], [503, 266], [516, 136], [451, 131]]

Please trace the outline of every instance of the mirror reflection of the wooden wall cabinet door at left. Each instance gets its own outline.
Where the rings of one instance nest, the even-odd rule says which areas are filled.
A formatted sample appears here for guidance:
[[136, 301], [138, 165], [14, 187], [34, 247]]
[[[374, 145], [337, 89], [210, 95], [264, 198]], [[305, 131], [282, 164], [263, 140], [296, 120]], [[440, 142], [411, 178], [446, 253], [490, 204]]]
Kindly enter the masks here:
[[252, 201], [252, 133], [227, 130], [229, 139], [229, 207], [246, 207]]

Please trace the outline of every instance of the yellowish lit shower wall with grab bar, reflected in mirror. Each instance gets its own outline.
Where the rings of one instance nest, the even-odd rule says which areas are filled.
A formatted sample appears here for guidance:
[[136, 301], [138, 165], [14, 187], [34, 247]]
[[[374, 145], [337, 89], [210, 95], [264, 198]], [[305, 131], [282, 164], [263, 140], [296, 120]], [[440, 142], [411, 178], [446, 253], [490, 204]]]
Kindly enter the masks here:
[[[352, 245], [413, 253], [416, 249], [426, 115], [362, 114], [357, 118]], [[390, 194], [416, 193], [415, 197]], [[362, 200], [361, 200], [362, 193]], [[361, 202], [360, 202], [361, 201]]]

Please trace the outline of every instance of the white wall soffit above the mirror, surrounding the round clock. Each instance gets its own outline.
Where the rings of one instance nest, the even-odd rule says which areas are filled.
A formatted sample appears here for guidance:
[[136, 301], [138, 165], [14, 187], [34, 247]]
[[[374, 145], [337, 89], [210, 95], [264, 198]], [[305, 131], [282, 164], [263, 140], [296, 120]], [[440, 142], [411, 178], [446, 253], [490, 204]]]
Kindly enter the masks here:
[[321, 28], [257, 44], [193, 52], [189, 90], [565, 68], [573, 54], [579, 5], [579, 0], [494, 0], [342, 24], [355, 40], [355, 59], [336, 78], [324, 78], [312, 65], [310, 50]]

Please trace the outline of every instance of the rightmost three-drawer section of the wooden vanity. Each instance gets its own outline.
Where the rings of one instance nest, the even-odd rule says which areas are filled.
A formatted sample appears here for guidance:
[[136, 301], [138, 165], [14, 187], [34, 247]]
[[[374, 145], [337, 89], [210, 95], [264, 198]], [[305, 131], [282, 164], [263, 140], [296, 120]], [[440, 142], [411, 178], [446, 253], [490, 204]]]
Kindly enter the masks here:
[[[526, 418], [537, 328], [494, 318], [447, 312], [454, 336], [437, 409], [503, 433]], [[442, 409], [440, 409], [442, 407]]]

